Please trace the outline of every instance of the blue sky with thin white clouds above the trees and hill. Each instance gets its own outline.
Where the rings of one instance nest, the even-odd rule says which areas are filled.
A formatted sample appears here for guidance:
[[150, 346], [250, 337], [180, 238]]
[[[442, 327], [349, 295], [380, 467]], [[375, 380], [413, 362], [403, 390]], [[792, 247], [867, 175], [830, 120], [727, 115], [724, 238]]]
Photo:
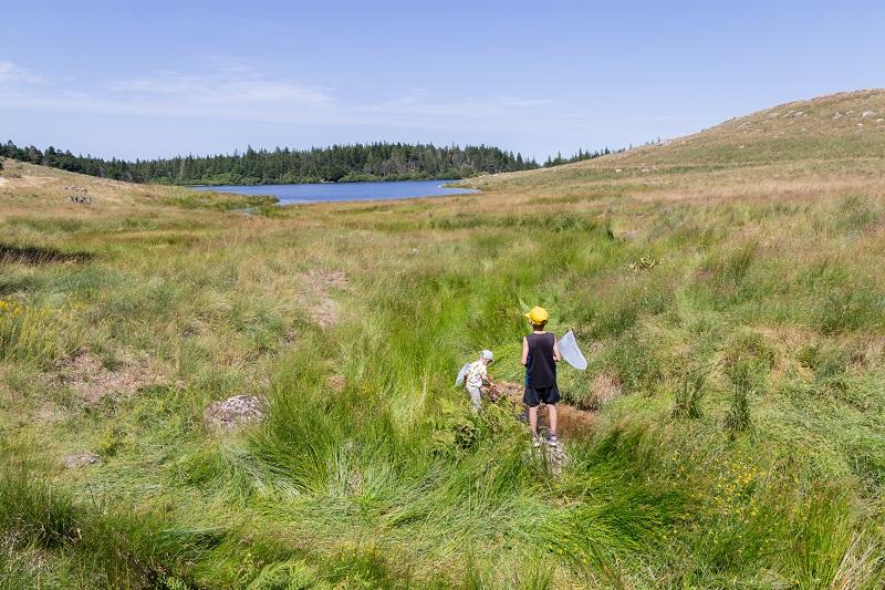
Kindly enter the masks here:
[[50, 0], [0, 14], [0, 138], [105, 157], [400, 141], [544, 158], [885, 73], [876, 1]]

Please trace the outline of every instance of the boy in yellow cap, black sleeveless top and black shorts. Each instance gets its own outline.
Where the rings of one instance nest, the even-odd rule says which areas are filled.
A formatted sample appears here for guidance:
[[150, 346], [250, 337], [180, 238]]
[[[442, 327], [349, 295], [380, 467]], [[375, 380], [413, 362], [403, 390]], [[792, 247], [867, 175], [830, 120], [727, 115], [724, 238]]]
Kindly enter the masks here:
[[560, 350], [556, 337], [544, 331], [550, 318], [544, 308], [533, 308], [525, 314], [532, 324], [532, 333], [522, 339], [522, 365], [525, 368], [525, 393], [522, 402], [529, 406], [529, 426], [532, 428], [534, 446], [541, 446], [538, 437], [538, 407], [541, 402], [548, 405], [550, 412], [550, 434], [548, 444], [559, 445], [556, 436], [556, 402], [560, 401], [560, 390], [556, 387], [556, 363], [560, 361]]

